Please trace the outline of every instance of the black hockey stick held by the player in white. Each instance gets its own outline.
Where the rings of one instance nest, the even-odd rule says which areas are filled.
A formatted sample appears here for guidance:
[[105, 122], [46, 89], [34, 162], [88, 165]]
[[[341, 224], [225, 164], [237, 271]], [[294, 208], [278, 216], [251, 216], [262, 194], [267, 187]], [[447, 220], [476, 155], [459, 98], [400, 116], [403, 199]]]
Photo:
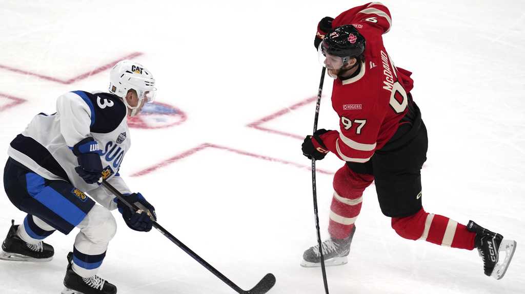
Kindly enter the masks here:
[[[140, 209], [135, 206], [133, 203], [129, 203], [124, 196], [115, 189], [111, 184], [106, 182], [106, 180], [102, 180], [102, 186], [104, 188], [108, 189], [115, 195], [124, 205], [128, 206], [129, 208], [133, 209], [133, 211], [139, 211]], [[151, 217], [151, 216], [150, 216]], [[266, 274], [258, 283], [255, 285], [255, 287], [251, 288], [250, 290], [243, 290], [239, 288], [239, 286], [235, 285], [234, 282], [229, 280], [226, 276], [221, 274], [217, 269], [215, 269], [212, 265], [207, 263], [204, 259], [202, 259], [201, 256], [198, 256], [195, 252], [193, 252], [190, 248], [188, 248], [186, 245], [184, 245], [181, 241], [179, 241], [175, 236], [170, 234], [166, 229], [162, 228], [159, 223], [157, 223], [155, 220], [153, 220], [153, 228], [157, 229], [159, 232], [161, 232], [167, 239], [170, 239], [171, 242], [175, 243], [178, 247], [180, 247], [184, 252], [186, 252], [188, 255], [193, 257], [199, 264], [207, 268], [210, 272], [212, 272], [217, 278], [222, 280], [226, 283], [226, 285], [232, 287], [237, 293], [239, 294], [264, 294], [268, 292], [268, 290], [271, 289], [275, 285], [275, 276], [273, 274]]]

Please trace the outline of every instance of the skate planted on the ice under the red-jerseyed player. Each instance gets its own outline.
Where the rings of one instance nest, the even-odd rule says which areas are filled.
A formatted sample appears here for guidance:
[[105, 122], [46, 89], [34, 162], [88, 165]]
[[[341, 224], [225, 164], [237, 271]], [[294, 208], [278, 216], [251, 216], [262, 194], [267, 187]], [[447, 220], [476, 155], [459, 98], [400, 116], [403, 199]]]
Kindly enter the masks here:
[[[355, 225], [345, 239], [330, 238], [321, 243], [325, 266], [342, 265], [348, 263], [348, 254], [350, 253], [350, 245], [355, 233]], [[321, 254], [319, 253], [319, 245], [310, 247], [304, 251], [302, 255], [301, 266], [303, 267], [319, 267], [321, 266]]]

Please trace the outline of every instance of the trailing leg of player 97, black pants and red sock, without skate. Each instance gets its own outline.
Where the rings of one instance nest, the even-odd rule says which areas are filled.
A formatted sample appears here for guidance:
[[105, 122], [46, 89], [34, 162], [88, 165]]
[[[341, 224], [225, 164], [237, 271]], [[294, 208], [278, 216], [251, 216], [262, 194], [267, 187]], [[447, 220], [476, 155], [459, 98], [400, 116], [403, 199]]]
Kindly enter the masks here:
[[[420, 117], [419, 117], [420, 119]], [[381, 150], [374, 155], [375, 187], [381, 211], [392, 218], [392, 228], [405, 239], [465, 248], [474, 248], [475, 233], [422, 206], [421, 168], [426, 160], [427, 132], [420, 120], [417, 130], [405, 132], [401, 148]]]

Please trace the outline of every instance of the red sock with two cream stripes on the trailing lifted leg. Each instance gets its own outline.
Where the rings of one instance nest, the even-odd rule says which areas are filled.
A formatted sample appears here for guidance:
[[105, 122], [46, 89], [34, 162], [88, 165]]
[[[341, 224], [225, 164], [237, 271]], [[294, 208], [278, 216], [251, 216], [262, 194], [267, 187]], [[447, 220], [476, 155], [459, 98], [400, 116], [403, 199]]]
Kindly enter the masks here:
[[474, 249], [476, 233], [469, 232], [463, 224], [439, 214], [425, 212], [423, 209], [409, 217], [392, 218], [392, 228], [405, 239], [425, 240], [467, 250]]

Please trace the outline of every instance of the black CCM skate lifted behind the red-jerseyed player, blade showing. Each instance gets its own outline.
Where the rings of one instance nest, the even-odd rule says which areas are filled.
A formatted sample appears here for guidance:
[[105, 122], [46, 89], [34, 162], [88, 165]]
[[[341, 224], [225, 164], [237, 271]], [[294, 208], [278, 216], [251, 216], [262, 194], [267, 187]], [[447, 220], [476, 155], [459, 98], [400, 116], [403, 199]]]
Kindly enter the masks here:
[[[473, 221], [468, 222], [467, 230], [476, 233], [474, 244], [483, 260], [485, 275], [501, 279], [507, 272], [514, 250], [516, 250], [516, 241], [503, 240], [502, 235], [482, 228]], [[501, 253], [505, 255], [501, 256]]]

